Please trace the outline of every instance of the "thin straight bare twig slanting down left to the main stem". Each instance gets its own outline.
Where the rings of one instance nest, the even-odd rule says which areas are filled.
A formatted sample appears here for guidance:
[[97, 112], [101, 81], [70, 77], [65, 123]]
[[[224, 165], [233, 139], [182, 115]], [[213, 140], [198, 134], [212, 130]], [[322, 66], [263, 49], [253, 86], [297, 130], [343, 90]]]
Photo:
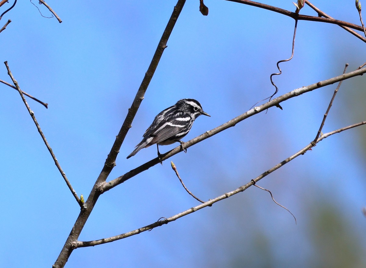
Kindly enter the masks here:
[[50, 152], [50, 154], [51, 154], [51, 156], [52, 156], [52, 158], [53, 158], [53, 161], [55, 161], [55, 165], [57, 166], [57, 169], [59, 169], [59, 171], [60, 171], [60, 173], [61, 173], [61, 176], [64, 178], [64, 180], [65, 180], [65, 182], [66, 182], [66, 184], [67, 184], [68, 188], [70, 189], [70, 191], [71, 191], [72, 195], [75, 197], [76, 201], [77, 201], [77, 202], [79, 203], [79, 205], [82, 207], [83, 203], [80, 201], [80, 199], [79, 199], [78, 195], [76, 194], [76, 192], [75, 192], [74, 188], [72, 188], [72, 186], [71, 186], [70, 182], [68, 181], [68, 179], [67, 179], [67, 177], [66, 177], [66, 174], [65, 174], [65, 173], [64, 173], [64, 171], [61, 169], [61, 166], [60, 166], [59, 162], [57, 161], [55, 154], [53, 154], [52, 148], [51, 148], [51, 146], [49, 146], [49, 144], [48, 144], [48, 142], [47, 142], [47, 140], [46, 140], [46, 137], [45, 137], [45, 135], [43, 134], [43, 132], [42, 132], [42, 130], [41, 130], [41, 127], [40, 127], [40, 125], [39, 125], [39, 124], [38, 124], [38, 122], [37, 122], [36, 117], [34, 116], [34, 112], [30, 109], [30, 107], [29, 107], [29, 105], [28, 105], [28, 103], [27, 103], [27, 101], [26, 101], [26, 99], [25, 99], [25, 97], [24, 97], [24, 95], [23, 95], [22, 90], [20, 90], [20, 87], [19, 87], [19, 85], [18, 85], [18, 82], [14, 79], [14, 76], [12, 75], [12, 73], [11, 73], [11, 71], [10, 71], [10, 68], [9, 68], [9, 66], [8, 66], [8, 62], [7, 62], [7, 61], [5, 61], [5, 62], [4, 62], [4, 64], [5, 64], [5, 66], [6, 66], [7, 70], [8, 70], [8, 75], [10, 76], [11, 80], [13, 81], [13, 83], [14, 83], [15, 87], [18, 89], [18, 92], [19, 92], [19, 94], [20, 94], [20, 97], [22, 97], [22, 100], [23, 100], [23, 102], [24, 102], [25, 106], [27, 107], [27, 110], [28, 110], [28, 112], [29, 112], [30, 116], [32, 117], [32, 119], [33, 119], [33, 121], [34, 121], [34, 124], [36, 124], [36, 127], [37, 127], [37, 129], [38, 129], [38, 132], [40, 133], [40, 135], [41, 135], [41, 137], [42, 137], [42, 139], [43, 139], [44, 143], [46, 144], [47, 149], [48, 149], [48, 151]]

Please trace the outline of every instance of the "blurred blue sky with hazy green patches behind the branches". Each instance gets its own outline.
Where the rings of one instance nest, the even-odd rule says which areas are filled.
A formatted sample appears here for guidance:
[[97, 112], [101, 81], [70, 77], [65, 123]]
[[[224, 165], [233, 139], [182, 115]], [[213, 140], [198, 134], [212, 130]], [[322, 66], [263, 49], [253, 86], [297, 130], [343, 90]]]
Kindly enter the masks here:
[[[33, 1], [44, 16], [51, 13]], [[52, 1], [63, 22], [44, 18], [30, 1], [3, 16], [0, 79], [27, 98], [68, 179], [86, 198], [150, 64], [176, 0]], [[292, 1], [262, 3], [295, 11]], [[330, 16], [360, 24], [354, 1], [313, 1]], [[7, 3], [0, 12], [10, 7]], [[195, 98], [190, 140], [250, 109], [275, 88], [269, 76], [291, 56], [294, 20], [219, 0], [188, 0], [168, 41], [109, 180], [156, 157], [154, 146], [126, 156], [154, 116]], [[317, 14], [307, 5], [301, 14]], [[365, 16], [366, 17], [366, 16]], [[355, 70], [365, 44], [337, 25], [299, 21], [294, 58], [275, 76], [279, 95]], [[2, 67], [1, 67], [2, 66]], [[0, 267], [51, 267], [79, 214], [19, 94], [0, 84], [3, 243]], [[335, 85], [281, 103], [188, 148], [102, 195], [81, 241], [125, 233], [198, 205], [171, 169], [203, 200], [246, 184], [314, 139]], [[323, 132], [364, 121], [365, 77], [343, 82]], [[366, 267], [365, 143], [358, 127], [250, 187], [175, 222], [113, 243], [76, 249], [66, 267]], [[178, 144], [161, 147], [160, 152]]]

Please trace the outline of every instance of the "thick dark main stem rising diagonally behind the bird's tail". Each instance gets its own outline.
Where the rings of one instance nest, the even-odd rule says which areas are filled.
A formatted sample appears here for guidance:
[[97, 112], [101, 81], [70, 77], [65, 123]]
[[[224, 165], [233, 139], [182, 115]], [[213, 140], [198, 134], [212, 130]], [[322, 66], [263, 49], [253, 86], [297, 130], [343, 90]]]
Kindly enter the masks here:
[[123, 140], [126, 137], [128, 130], [131, 128], [132, 120], [134, 119], [134, 117], [137, 113], [137, 110], [145, 95], [147, 87], [149, 86], [149, 83], [154, 75], [154, 72], [155, 72], [157, 65], [160, 61], [160, 58], [164, 52], [164, 49], [167, 48], [167, 42], [168, 42], [169, 36], [173, 31], [175, 23], [178, 20], [179, 14], [182, 11], [182, 8], [183, 8], [185, 2], [186, 2], [186, 0], [178, 0], [177, 4], [174, 7], [172, 15], [169, 18], [167, 26], [165, 27], [165, 30], [163, 32], [163, 35], [160, 39], [160, 42], [159, 42], [157, 48], [156, 48], [155, 54], [149, 65], [149, 68], [147, 69], [147, 72], [145, 73], [145, 77], [142, 80], [141, 86], [139, 87], [137, 94], [135, 96], [135, 99], [132, 102], [132, 106], [128, 110], [126, 119], [123, 122], [120, 132], [116, 136], [116, 140], [113, 143], [111, 151], [108, 154], [108, 157], [104, 163], [104, 167], [103, 167], [100, 175], [98, 176], [98, 178], [93, 186], [93, 189], [91, 190], [91, 192], [89, 194], [89, 197], [87, 198], [87, 200], [85, 202], [85, 209], [81, 211], [78, 218], [76, 219], [75, 224], [72, 227], [72, 230], [66, 239], [65, 245], [63, 246], [59, 256], [57, 257], [55, 264], [53, 265], [53, 268], [61, 268], [61, 267], [64, 267], [64, 265], [66, 264], [68, 258], [70, 257], [70, 254], [74, 250], [73, 242], [78, 239], [87, 219], [89, 218], [89, 216], [91, 214], [91, 211], [94, 208], [94, 205], [95, 205], [98, 197], [102, 194], [102, 191], [101, 191], [102, 185], [104, 185], [105, 181], [107, 180], [108, 175], [111, 173], [113, 167], [116, 165], [116, 158], [117, 158], [119, 150], [122, 146]]

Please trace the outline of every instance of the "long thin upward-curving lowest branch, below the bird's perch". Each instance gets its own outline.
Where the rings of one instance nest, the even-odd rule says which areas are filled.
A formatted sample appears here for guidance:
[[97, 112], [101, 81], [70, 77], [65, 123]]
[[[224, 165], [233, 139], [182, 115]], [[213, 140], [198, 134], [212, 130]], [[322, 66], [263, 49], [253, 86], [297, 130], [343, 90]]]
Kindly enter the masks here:
[[[366, 124], [366, 121], [363, 121], [363, 122], [359, 122], [357, 124], [354, 124], [354, 125], [351, 125], [351, 126], [348, 126], [348, 127], [340, 128], [340, 129], [337, 129], [335, 131], [332, 131], [332, 132], [323, 134], [320, 137], [320, 139], [318, 139], [317, 143], [319, 143], [321, 140], [323, 140], [326, 137], [328, 137], [330, 135], [333, 135], [335, 133], [339, 133], [339, 132], [345, 131], [347, 129], [351, 129], [351, 128], [358, 127], [360, 125], [365, 125], [365, 124]], [[158, 221], [158, 222], [154, 222], [154, 223], [149, 224], [149, 225], [147, 225], [145, 227], [142, 227], [142, 228], [139, 228], [139, 229], [136, 229], [136, 230], [133, 230], [133, 231], [124, 233], [124, 234], [116, 235], [116, 236], [109, 237], [109, 238], [103, 238], [103, 239], [99, 239], [99, 240], [93, 240], [93, 241], [73, 241], [72, 242], [72, 246], [74, 248], [83, 248], [83, 247], [87, 247], [87, 246], [96, 246], [96, 245], [101, 245], [101, 244], [105, 244], [105, 243], [110, 243], [110, 242], [113, 242], [113, 241], [116, 241], [116, 240], [119, 240], [119, 239], [123, 239], [123, 238], [126, 238], [126, 237], [130, 237], [130, 236], [135, 235], [135, 234], [140, 234], [142, 232], [149, 231], [149, 230], [154, 229], [156, 227], [162, 226], [163, 224], [168, 224], [169, 222], [172, 222], [174, 220], [177, 220], [179, 218], [182, 218], [183, 216], [186, 216], [188, 214], [191, 214], [193, 212], [196, 212], [196, 211], [198, 211], [198, 210], [200, 210], [202, 208], [211, 207], [216, 202], [219, 202], [219, 201], [221, 201], [223, 199], [226, 199], [228, 197], [231, 197], [233, 195], [236, 195], [237, 193], [243, 192], [244, 190], [248, 189], [250, 186], [254, 185], [256, 182], [258, 182], [262, 178], [266, 177], [267, 175], [269, 175], [273, 171], [275, 171], [275, 170], [279, 169], [280, 167], [284, 166], [286, 163], [292, 161], [293, 159], [295, 159], [299, 155], [305, 154], [312, 147], [314, 147], [314, 145], [311, 142], [307, 146], [305, 146], [304, 148], [302, 148], [300, 151], [296, 152], [294, 155], [291, 155], [290, 157], [286, 158], [284, 161], [278, 163], [276, 166], [274, 166], [271, 169], [265, 171], [264, 173], [262, 173], [261, 175], [259, 175], [256, 178], [254, 178], [253, 180], [251, 180], [247, 184], [245, 184], [243, 186], [240, 186], [239, 188], [237, 188], [237, 189], [235, 189], [235, 190], [233, 190], [231, 192], [224, 193], [223, 195], [218, 196], [218, 197], [216, 197], [214, 199], [210, 199], [209, 201], [207, 201], [207, 202], [205, 202], [203, 204], [197, 205], [196, 207], [190, 208], [190, 209], [188, 209], [186, 211], [180, 212], [179, 214], [176, 214], [176, 215], [171, 216], [169, 218], [165, 218], [164, 220], [161, 220], [161, 221]], [[292, 216], [294, 216], [294, 215], [292, 215]]]

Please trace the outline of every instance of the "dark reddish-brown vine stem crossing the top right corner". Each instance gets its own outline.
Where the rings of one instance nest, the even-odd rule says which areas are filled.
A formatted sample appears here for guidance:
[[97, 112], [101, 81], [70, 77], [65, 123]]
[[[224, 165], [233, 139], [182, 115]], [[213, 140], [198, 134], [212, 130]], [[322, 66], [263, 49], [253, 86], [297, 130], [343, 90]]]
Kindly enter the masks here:
[[332, 23], [332, 24], [337, 24], [339, 26], [346, 26], [346, 27], [349, 27], [349, 28], [352, 28], [352, 29], [355, 29], [355, 30], [362, 31], [362, 26], [359, 26], [357, 24], [353, 24], [353, 23], [350, 23], [350, 22], [345, 22], [343, 20], [336, 20], [336, 19], [322, 18], [322, 17], [315, 17], [315, 16], [307, 16], [307, 15], [300, 15], [300, 14], [296, 14], [295, 12], [284, 10], [282, 8], [273, 7], [272, 5], [266, 5], [266, 4], [262, 4], [262, 3], [258, 3], [258, 2], [254, 2], [254, 1], [249, 1], [249, 0], [226, 0], [226, 1], [231, 1], [231, 2], [236, 2], [236, 3], [240, 3], [240, 4], [251, 5], [253, 7], [263, 8], [263, 9], [266, 9], [266, 10], [270, 10], [270, 11], [273, 11], [273, 12], [280, 13], [280, 14], [285, 15], [285, 16], [289, 16], [293, 19], [308, 20], [308, 21], [314, 21], [314, 22]]

